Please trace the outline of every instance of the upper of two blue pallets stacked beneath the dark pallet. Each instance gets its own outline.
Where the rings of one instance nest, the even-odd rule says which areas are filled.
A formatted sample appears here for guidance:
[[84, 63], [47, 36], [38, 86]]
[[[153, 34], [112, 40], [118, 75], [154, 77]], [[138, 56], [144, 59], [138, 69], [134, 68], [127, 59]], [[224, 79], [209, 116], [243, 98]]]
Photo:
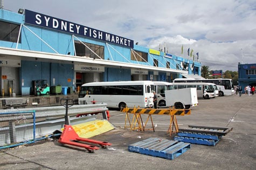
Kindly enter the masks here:
[[192, 133], [192, 132], [178, 132], [177, 134], [178, 136], [181, 137], [192, 137], [192, 138], [200, 138], [200, 139], [211, 139], [214, 141], [219, 141], [219, 139], [222, 136], [218, 136], [218, 135], [209, 135], [209, 134], [200, 134], [200, 133]]

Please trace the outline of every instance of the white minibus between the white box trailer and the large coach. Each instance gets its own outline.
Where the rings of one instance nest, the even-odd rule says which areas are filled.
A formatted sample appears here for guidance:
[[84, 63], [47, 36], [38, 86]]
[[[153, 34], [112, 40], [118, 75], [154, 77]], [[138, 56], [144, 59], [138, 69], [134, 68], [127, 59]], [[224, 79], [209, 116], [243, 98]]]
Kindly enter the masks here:
[[215, 87], [211, 83], [172, 83], [174, 89], [196, 88], [197, 98], [215, 98]]

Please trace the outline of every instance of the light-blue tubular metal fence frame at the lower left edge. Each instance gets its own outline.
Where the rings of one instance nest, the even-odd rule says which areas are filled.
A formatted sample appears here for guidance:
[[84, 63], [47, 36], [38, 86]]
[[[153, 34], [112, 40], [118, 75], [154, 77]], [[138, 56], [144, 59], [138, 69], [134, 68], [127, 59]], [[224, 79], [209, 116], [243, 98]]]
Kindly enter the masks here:
[[[3, 120], [6, 119], [6, 122], [9, 121], [10, 141], [13, 141], [13, 139], [11, 139], [11, 132], [14, 131], [14, 133], [15, 133], [16, 125], [13, 124], [12, 122], [16, 120], [17, 116], [21, 116], [21, 115], [29, 114], [29, 113], [32, 113], [32, 116], [29, 115], [27, 117], [30, 118], [30, 119], [31, 118], [33, 119], [33, 135], [32, 135], [33, 139], [30, 139], [29, 141], [25, 141], [25, 142], [15, 143], [15, 144], [12, 144], [10, 142], [10, 145], [0, 146], [0, 149], [5, 149], [5, 148], [8, 148], [8, 147], [15, 147], [15, 146], [23, 145], [23, 144], [30, 144], [30, 143], [36, 142], [36, 111], [35, 110], [24, 111], [24, 112], [21, 111], [21, 112], [5, 112], [5, 113], [0, 113], [0, 118], [2, 118]], [[8, 118], [10, 116], [12, 117], [11, 119]]]

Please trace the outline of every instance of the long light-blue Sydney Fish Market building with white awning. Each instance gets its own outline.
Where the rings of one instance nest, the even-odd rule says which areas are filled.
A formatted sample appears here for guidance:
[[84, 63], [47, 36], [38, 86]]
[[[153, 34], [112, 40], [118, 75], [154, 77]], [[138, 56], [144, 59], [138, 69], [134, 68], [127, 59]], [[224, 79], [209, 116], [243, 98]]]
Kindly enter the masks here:
[[77, 90], [89, 82], [200, 76], [200, 63], [38, 12], [0, 9], [2, 95], [31, 95], [34, 80]]

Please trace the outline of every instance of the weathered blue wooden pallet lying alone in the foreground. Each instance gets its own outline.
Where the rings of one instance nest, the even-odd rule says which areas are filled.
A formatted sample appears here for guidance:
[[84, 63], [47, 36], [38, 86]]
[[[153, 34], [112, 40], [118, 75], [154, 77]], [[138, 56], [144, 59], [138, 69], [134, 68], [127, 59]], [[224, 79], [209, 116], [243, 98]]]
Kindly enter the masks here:
[[128, 150], [130, 152], [172, 160], [189, 150], [190, 146], [190, 143], [169, 141], [160, 138], [148, 138], [144, 141], [130, 144]]

